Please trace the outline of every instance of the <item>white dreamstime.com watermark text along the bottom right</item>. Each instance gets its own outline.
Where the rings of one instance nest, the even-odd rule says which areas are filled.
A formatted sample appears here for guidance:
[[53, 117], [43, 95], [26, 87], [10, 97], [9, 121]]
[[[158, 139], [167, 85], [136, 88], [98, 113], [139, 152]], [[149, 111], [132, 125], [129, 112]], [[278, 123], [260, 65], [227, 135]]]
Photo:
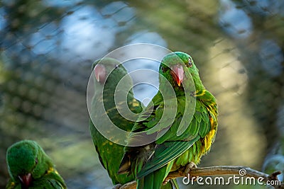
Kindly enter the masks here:
[[193, 185], [194, 183], [197, 183], [197, 185], [280, 185], [281, 183], [281, 181], [265, 181], [263, 177], [254, 178], [246, 175], [246, 169], [241, 168], [239, 170], [239, 176], [234, 175], [227, 178], [221, 176], [216, 176], [214, 178], [192, 176], [192, 178], [184, 177], [182, 183], [185, 185]]

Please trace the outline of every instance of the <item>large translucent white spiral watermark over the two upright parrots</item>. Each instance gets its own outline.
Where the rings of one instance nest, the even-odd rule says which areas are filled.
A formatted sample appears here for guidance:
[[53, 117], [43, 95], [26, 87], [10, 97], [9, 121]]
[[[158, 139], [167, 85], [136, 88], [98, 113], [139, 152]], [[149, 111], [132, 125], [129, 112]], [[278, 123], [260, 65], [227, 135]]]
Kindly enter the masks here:
[[[139, 44], [126, 45], [124, 47], [120, 47], [110, 52], [102, 59], [106, 58], [116, 59], [119, 62], [119, 64], [123, 64], [124, 62], [129, 62], [136, 59], [139, 60], [139, 63], [143, 62], [143, 60], [146, 61], [152, 60], [160, 63], [163, 57], [165, 57], [169, 53], [172, 53], [172, 51], [168, 50], [165, 47], [148, 44], [148, 43], [139, 43]], [[178, 58], [178, 56], [176, 57], [177, 58], [175, 59], [175, 63], [181, 64], [185, 67], [185, 64], [182, 62], [182, 60]], [[100, 62], [98, 64], [100, 64]], [[127, 132], [118, 127], [121, 126], [118, 124], [124, 122], [124, 120], [119, 120], [118, 121], [119, 123], [116, 122], [116, 124], [114, 123], [115, 122], [114, 118], [111, 118], [111, 116], [109, 117], [108, 115], [109, 111], [111, 111], [111, 108], [114, 107], [111, 108], [105, 107], [105, 104], [102, 101], [102, 99], [107, 99], [111, 103], [113, 102], [113, 100], [110, 98], [114, 98], [114, 103], [115, 103], [114, 106], [119, 112], [120, 116], [119, 119], [131, 120], [133, 122], [142, 121], [147, 118], [146, 114], [143, 114], [144, 111], [135, 114], [129, 109], [127, 98], [129, 91], [131, 91], [133, 88], [132, 81], [131, 82], [129, 81], [129, 79], [131, 79], [130, 75], [141, 76], [142, 78], [144, 78], [145, 80], [141, 81], [141, 84], [148, 84], [151, 86], [155, 86], [155, 88], [159, 87], [147, 80], [148, 74], [150, 75], [153, 72], [152, 69], [137, 69], [122, 76], [119, 82], [111, 81], [111, 79], [113, 79], [113, 77], [111, 77], [111, 74], [115, 73], [116, 71], [115, 69], [118, 66], [119, 65], [116, 65], [116, 67], [113, 67], [113, 69], [110, 71], [107, 70], [106, 73], [107, 79], [105, 79], [105, 81], [107, 82], [117, 83], [114, 91], [114, 96], [104, 95], [104, 88], [106, 88], [107, 90], [108, 87], [107, 83], [104, 83], [103, 85], [99, 86], [98, 82], [95, 80], [94, 71], [92, 71], [87, 86], [87, 108], [89, 111], [89, 116], [92, 122], [94, 123], [94, 126], [104, 137], [109, 139], [111, 142], [126, 146], [126, 144], [128, 144], [127, 139], [129, 137], [129, 134], [131, 134], [131, 132]], [[135, 65], [133, 66], [135, 67]], [[155, 72], [159, 74], [158, 71]], [[172, 125], [175, 120], [175, 115], [177, 112], [178, 105], [173, 86], [171, 86], [170, 82], [167, 79], [165, 79], [165, 77], [163, 77], [163, 75], [161, 74], [159, 74], [159, 81], [165, 84], [164, 90], [159, 88], [159, 91], [164, 99], [163, 115], [160, 118], [159, 122], [155, 125], [155, 127], [151, 128], [146, 132], [136, 133], [138, 135], [137, 142], [128, 144], [129, 146], [132, 147], [142, 146], [154, 142], [159, 137], [162, 137], [163, 134], [165, 134], [165, 132], [168, 131], [168, 129], [170, 129], [170, 127], [165, 128], [165, 124]], [[177, 132], [178, 136], [181, 135], [183, 132], [185, 132], [188, 122], [192, 120], [192, 117], [195, 113], [195, 98], [190, 95], [192, 91], [195, 91], [195, 86], [191, 75], [187, 76], [187, 78], [184, 79], [184, 81], [182, 81], [182, 84], [183, 82], [191, 82], [191, 84], [189, 85], [190, 87], [184, 88], [185, 98], [186, 98], [185, 113], [178, 127], [178, 132]], [[150, 102], [150, 105], [148, 105], [148, 107], [143, 108], [144, 110], [145, 109], [147, 110], [147, 115], [151, 115], [151, 112], [149, 113], [149, 111], [151, 110], [151, 104], [153, 105], [153, 103]], [[141, 116], [141, 114], [143, 114], [143, 116]]]

